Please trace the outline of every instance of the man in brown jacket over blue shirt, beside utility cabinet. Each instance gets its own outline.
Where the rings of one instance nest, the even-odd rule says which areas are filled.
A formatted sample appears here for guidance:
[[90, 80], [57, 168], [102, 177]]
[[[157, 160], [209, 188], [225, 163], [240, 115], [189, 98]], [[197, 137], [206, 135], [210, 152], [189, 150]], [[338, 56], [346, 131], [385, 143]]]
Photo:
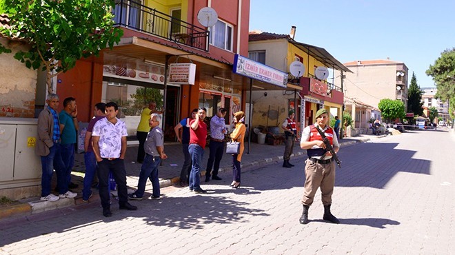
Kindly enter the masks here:
[[[35, 153], [41, 156], [41, 201], [57, 201], [59, 196], [50, 193], [50, 182], [54, 174], [54, 158], [59, 153], [60, 123], [57, 108], [59, 107], [59, 96], [48, 94], [46, 99], [48, 105], [38, 116], [38, 139]], [[57, 178], [57, 182], [61, 179]]]

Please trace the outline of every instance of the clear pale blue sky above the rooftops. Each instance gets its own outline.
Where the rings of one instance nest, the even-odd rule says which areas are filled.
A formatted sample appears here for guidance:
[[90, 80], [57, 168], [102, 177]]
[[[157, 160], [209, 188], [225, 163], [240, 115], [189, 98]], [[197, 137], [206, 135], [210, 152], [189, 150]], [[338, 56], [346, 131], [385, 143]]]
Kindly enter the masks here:
[[325, 48], [341, 63], [401, 61], [421, 88], [433, 87], [425, 71], [455, 47], [455, 1], [251, 0], [250, 31], [289, 34]]

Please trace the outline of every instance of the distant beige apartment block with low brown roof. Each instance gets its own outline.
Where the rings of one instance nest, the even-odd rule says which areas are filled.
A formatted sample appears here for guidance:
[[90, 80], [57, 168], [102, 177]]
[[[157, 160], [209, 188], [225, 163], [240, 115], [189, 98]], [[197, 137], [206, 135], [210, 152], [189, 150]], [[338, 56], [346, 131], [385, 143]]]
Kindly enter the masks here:
[[[381, 99], [398, 99], [407, 108], [407, 73], [405, 63], [386, 60], [365, 60], [344, 63], [352, 73], [343, 79], [345, 96], [378, 107]], [[340, 73], [335, 71], [335, 77]], [[335, 79], [341, 87], [341, 80]]]

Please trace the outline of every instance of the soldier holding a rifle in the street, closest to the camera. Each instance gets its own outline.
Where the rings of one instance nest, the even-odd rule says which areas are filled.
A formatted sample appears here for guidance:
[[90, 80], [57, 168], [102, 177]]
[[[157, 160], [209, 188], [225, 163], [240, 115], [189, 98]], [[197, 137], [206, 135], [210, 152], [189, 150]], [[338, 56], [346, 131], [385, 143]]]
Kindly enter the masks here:
[[324, 205], [325, 221], [331, 223], [340, 223], [338, 218], [330, 212], [330, 205], [332, 205], [332, 194], [335, 185], [335, 162], [332, 154], [325, 150], [325, 144], [321, 134], [316, 128], [324, 132], [327, 139], [329, 139], [334, 152], [338, 152], [340, 145], [336, 134], [327, 122], [329, 121], [329, 114], [327, 110], [320, 109], [316, 112], [316, 123], [309, 125], [303, 129], [300, 141], [300, 147], [307, 150], [308, 159], [305, 161], [305, 192], [303, 193], [302, 205], [303, 213], [300, 218], [301, 224], [308, 223], [308, 209], [313, 203], [314, 194], [318, 188], [321, 188], [322, 202]]

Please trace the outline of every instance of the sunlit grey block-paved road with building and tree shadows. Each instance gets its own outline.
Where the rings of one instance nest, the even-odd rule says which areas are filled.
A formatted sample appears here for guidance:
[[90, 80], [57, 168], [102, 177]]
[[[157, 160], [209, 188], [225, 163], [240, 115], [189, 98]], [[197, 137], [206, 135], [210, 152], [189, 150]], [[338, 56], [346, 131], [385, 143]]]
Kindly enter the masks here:
[[[161, 201], [104, 218], [99, 205], [2, 229], [0, 254], [451, 254], [455, 212], [454, 134], [407, 132], [343, 147], [332, 213], [318, 192], [299, 224], [304, 163], [266, 165], [208, 194], [166, 187]], [[295, 164], [296, 161], [294, 160]]]

